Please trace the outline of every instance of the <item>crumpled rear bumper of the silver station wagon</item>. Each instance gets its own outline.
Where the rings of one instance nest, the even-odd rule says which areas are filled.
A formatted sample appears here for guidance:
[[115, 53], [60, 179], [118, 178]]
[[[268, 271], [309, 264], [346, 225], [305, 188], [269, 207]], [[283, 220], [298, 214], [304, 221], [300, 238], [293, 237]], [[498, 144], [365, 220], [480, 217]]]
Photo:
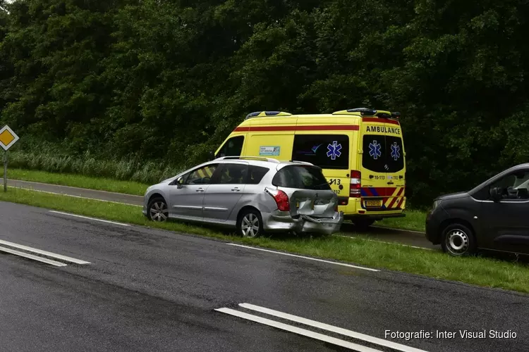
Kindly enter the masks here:
[[287, 212], [263, 213], [265, 231], [293, 231], [297, 233], [312, 232], [334, 234], [340, 231], [343, 212], [335, 212], [332, 218], [314, 218], [310, 215], [299, 215], [293, 218]]

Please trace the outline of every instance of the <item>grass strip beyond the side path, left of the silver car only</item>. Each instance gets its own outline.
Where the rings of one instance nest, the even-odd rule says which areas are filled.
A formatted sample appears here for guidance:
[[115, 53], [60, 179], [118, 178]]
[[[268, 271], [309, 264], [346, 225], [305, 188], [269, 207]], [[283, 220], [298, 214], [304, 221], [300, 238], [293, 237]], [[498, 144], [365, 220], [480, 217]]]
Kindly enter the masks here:
[[99, 191], [135, 194], [136, 196], [143, 196], [145, 190], [149, 187], [149, 184], [134, 181], [120, 181], [102, 177], [59, 174], [37, 170], [9, 169], [8, 178], [13, 180], [61, 184], [62, 186], [98, 189]]

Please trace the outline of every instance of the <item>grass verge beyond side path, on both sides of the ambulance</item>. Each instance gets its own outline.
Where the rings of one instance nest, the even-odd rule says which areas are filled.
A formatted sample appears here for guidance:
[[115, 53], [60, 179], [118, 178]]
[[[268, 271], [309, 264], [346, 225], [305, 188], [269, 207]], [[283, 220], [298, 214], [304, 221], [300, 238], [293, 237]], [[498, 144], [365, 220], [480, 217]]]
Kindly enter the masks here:
[[[61, 186], [97, 189], [99, 191], [134, 194], [137, 196], [143, 196], [147, 187], [150, 186], [149, 184], [135, 181], [121, 181], [102, 177], [23, 169], [8, 170], [8, 178], [13, 180], [60, 184]], [[385, 219], [376, 222], [375, 225], [423, 232], [425, 231], [425, 219], [426, 213], [422, 211], [406, 210], [406, 218]]]

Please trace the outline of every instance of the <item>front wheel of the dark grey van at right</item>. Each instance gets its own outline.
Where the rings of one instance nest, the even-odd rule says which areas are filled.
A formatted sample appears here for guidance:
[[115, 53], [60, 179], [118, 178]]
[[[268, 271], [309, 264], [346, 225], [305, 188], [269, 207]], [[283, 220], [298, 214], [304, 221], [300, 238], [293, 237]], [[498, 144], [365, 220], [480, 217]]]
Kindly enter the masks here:
[[444, 228], [441, 247], [444, 253], [454, 257], [472, 256], [476, 252], [477, 243], [472, 230], [456, 223]]

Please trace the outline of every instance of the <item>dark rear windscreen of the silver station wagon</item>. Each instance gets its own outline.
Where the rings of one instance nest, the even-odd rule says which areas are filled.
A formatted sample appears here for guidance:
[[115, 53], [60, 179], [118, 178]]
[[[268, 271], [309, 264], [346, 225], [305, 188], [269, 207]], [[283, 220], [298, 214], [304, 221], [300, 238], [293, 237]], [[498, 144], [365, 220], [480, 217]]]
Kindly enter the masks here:
[[272, 184], [286, 188], [331, 189], [322, 169], [310, 165], [285, 166], [276, 173]]

